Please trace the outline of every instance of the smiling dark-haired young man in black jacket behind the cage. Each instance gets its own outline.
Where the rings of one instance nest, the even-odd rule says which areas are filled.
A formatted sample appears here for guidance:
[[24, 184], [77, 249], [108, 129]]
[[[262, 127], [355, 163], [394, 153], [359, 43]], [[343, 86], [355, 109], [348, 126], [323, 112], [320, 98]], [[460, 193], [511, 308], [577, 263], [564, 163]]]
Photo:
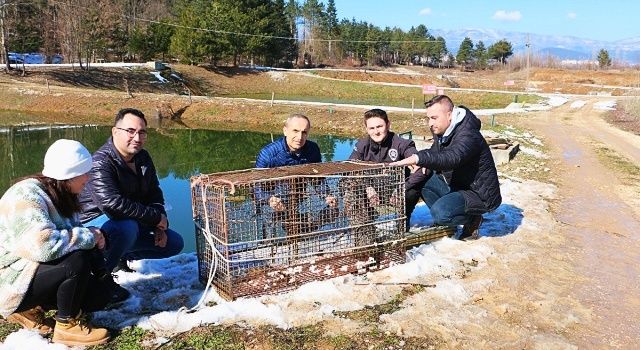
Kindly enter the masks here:
[[[366, 111], [364, 113], [364, 127], [368, 136], [358, 140], [349, 159], [391, 163], [417, 153], [413, 141], [403, 139], [389, 131], [391, 122], [387, 113], [382, 109], [376, 108]], [[405, 215], [407, 216], [406, 228], [408, 229], [411, 213], [420, 199], [420, 190], [426, 181], [426, 175], [422, 169], [417, 169], [413, 173], [407, 169], [405, 177]], [[380, 202], [378, 193], [372, 186], [367, 187], [367, 197], [373, 205]]]

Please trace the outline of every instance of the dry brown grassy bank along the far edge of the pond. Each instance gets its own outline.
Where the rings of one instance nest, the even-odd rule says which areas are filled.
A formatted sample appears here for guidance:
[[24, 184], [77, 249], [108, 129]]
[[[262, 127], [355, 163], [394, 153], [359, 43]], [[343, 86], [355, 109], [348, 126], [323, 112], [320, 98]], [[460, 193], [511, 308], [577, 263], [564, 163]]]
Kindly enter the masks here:
[[[110, 124], [115, 113], [123, 107], [143, 110], [152, 126], [160, 122], [159, 110], [170, 107], [180, 111], [175, 122], [162, 120], [165, 127], [184, 127], [217, 130], [251, 130], [279, 132], [291, 113], [304, 113], [313, 123], [313, 133], [341, 136], [362, 134], [363, 109], [346, 107], [318, 107], [305, 105], [273, 105], [220, 98], [196, 98], [175, 94], [126, 93], [114, 90], [80, 89], [41, 84], [3, 84], [0, 82], [0, 125], [21, 123]], [[478, 105], [496, 104], [495, 95], [476, 96]], [[455, 97], [454, 97], [455, 98]], [[464, 99], [460, 99], [465, 103]], [[470, 100], [467, 100], [470, 101]], [[352, 101], [353, 102], [353, 101]], [[457, 102], [457, 100], [456, 100]], [[505, 103], [507, 103], [505, 101]], [[393, 129], [412, 130], [418, 134], [428, 132], [422, 113], [390, 113]]]

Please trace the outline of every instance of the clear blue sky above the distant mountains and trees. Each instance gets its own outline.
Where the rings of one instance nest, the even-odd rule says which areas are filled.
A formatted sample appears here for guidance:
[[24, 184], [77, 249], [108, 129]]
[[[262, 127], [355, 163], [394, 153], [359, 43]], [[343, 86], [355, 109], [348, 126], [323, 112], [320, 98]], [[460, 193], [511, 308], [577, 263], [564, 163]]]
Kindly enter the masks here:
[[[326, 3], [326, 0], [324, 1]], [[500, 29], [615, 41], [640, 37], [637, 0], [335, 0], [338, 18], [404, 30]]]

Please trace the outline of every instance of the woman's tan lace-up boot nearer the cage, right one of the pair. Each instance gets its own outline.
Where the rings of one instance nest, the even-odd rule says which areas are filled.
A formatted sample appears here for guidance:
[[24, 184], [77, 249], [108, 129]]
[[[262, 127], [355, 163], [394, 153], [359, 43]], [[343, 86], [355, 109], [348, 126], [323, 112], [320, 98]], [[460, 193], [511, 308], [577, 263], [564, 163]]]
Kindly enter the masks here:
[[109, 341], [109, 331], [105, 328], [93, 328], [79, 314], [76, 318], [57, 319], [52, 340], [68, 346], [98, 345]]

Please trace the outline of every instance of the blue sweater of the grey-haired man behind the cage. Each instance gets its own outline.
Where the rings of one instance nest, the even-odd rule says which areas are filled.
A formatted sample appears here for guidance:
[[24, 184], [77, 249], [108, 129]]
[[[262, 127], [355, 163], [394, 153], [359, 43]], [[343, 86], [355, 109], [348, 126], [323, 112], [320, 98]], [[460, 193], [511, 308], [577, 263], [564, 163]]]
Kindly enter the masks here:
[[298, 153], [290, 152], [284, 137], [264, 146], [256, 159], [256, 168], [275, 168], [287, 165], [320, 163], [322, 157], [318, 145], [307, 140]]

